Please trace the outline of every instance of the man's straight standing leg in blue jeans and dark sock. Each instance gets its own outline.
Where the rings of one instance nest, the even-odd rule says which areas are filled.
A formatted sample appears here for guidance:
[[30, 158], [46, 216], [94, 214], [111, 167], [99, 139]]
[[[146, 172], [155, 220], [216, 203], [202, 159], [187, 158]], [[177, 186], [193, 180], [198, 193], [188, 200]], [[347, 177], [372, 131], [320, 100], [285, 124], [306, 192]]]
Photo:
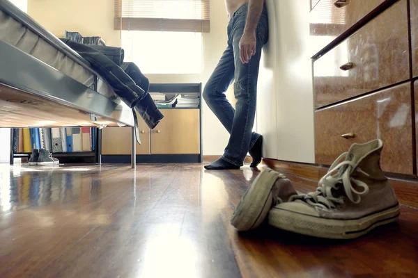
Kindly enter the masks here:
[[234, 95], [235, 99], [237, 99], [236, 111], [230, 132], [231, 136], [222, 158], [207, 165], [206, 169], [238, 169], [243, 165], [249, 149], [255, 147], [255, 145], [260, 148], [258, 154], [261, 160], [261, 143], [258, 143], [261, 141], [258, 140], [260, 135], [253, 133], [252, 128], [254, 126], [256, 111], [258, 69], [261, 59], [261, 49], [268, 38], [268, 20], [267, 13], [265, 13], [264, 10], [256, 31], [256, 54], [251, 57], [249, 63], [242, 63], [240, 60], [239, 43], [242, 34], [244, 33], [246, 18], [247, 9], [242, 9], [239, 10], [238, 15], [235, 15], [235, 17], [231, 19], [233, 21], [231, 28], [231, 44], [235, 65]]

